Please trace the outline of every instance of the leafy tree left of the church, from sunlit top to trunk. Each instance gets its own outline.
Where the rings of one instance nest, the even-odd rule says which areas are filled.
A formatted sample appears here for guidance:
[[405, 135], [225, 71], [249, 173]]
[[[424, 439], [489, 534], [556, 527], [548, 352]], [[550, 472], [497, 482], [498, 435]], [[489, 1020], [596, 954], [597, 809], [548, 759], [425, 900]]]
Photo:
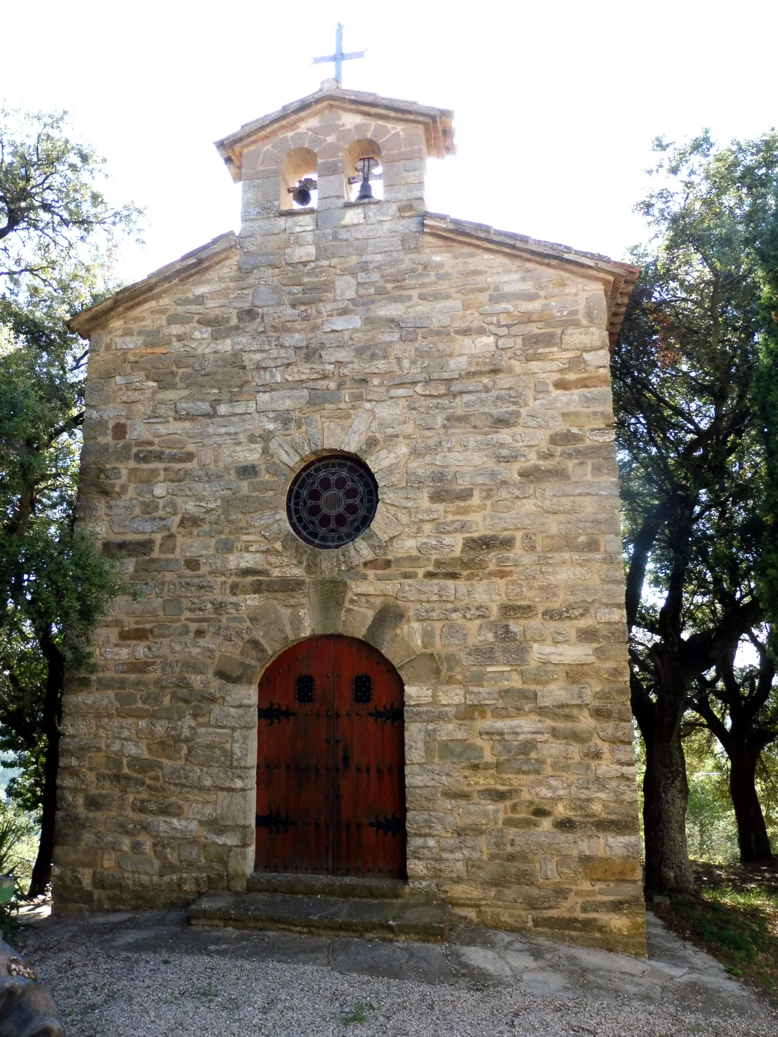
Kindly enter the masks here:
[[64, 320], [111, 285], [137, 218], [100, 190], [103, 164], [62, 114], [0, 111], [0, 751], [8, 792], [41, 810], [33, 875], [48, 881], [65, 668], [88, 666], [114, 563], [75, 523], [87, 347]]

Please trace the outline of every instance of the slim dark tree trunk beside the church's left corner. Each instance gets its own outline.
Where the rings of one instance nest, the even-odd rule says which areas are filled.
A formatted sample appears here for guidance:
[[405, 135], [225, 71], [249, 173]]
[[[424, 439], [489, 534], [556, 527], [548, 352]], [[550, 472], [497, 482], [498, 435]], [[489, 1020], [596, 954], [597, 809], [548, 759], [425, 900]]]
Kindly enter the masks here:
[[64, 682], [64, 658], [50, 635], [41, 637], [39, 643], [48, 672], [46, 677], [46, 698], [44, 703], [44, 731], [46, 734], [46, 758], [44, 760], [44, 787], [40, 805], [40, 845], [32, 869], [29, 895], [40, 896], [51, 882], [54, 861], [54, 820], [57, 812], [57, 772], [59, 769], [59, 724], [62, 716], [62, 686]]

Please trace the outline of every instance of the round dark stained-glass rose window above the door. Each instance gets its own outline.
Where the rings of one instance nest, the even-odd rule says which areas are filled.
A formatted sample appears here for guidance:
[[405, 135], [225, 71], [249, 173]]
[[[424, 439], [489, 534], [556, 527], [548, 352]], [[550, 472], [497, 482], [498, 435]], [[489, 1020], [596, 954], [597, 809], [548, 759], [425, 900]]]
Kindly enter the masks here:
[[313, 548], [339, 548], [368, 528], [379, 487], [358, 457], [318, 457], [291, 480], [286, 497], [289, 525]]

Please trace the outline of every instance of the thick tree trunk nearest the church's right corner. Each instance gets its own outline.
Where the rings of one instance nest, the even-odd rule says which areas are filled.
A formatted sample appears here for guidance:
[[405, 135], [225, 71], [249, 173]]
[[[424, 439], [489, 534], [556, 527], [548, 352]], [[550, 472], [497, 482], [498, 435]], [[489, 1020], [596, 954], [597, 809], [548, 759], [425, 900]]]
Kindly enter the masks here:
[[686, 842], [689, 783], [680, 744], [680, 718], [673, 723], [672, 718], [667, 716], [677, 708], [673, 701], [660, 700], [655, 730], [645, 738], [643, 832], [646, 893], [666, 894], [692, 888]]

